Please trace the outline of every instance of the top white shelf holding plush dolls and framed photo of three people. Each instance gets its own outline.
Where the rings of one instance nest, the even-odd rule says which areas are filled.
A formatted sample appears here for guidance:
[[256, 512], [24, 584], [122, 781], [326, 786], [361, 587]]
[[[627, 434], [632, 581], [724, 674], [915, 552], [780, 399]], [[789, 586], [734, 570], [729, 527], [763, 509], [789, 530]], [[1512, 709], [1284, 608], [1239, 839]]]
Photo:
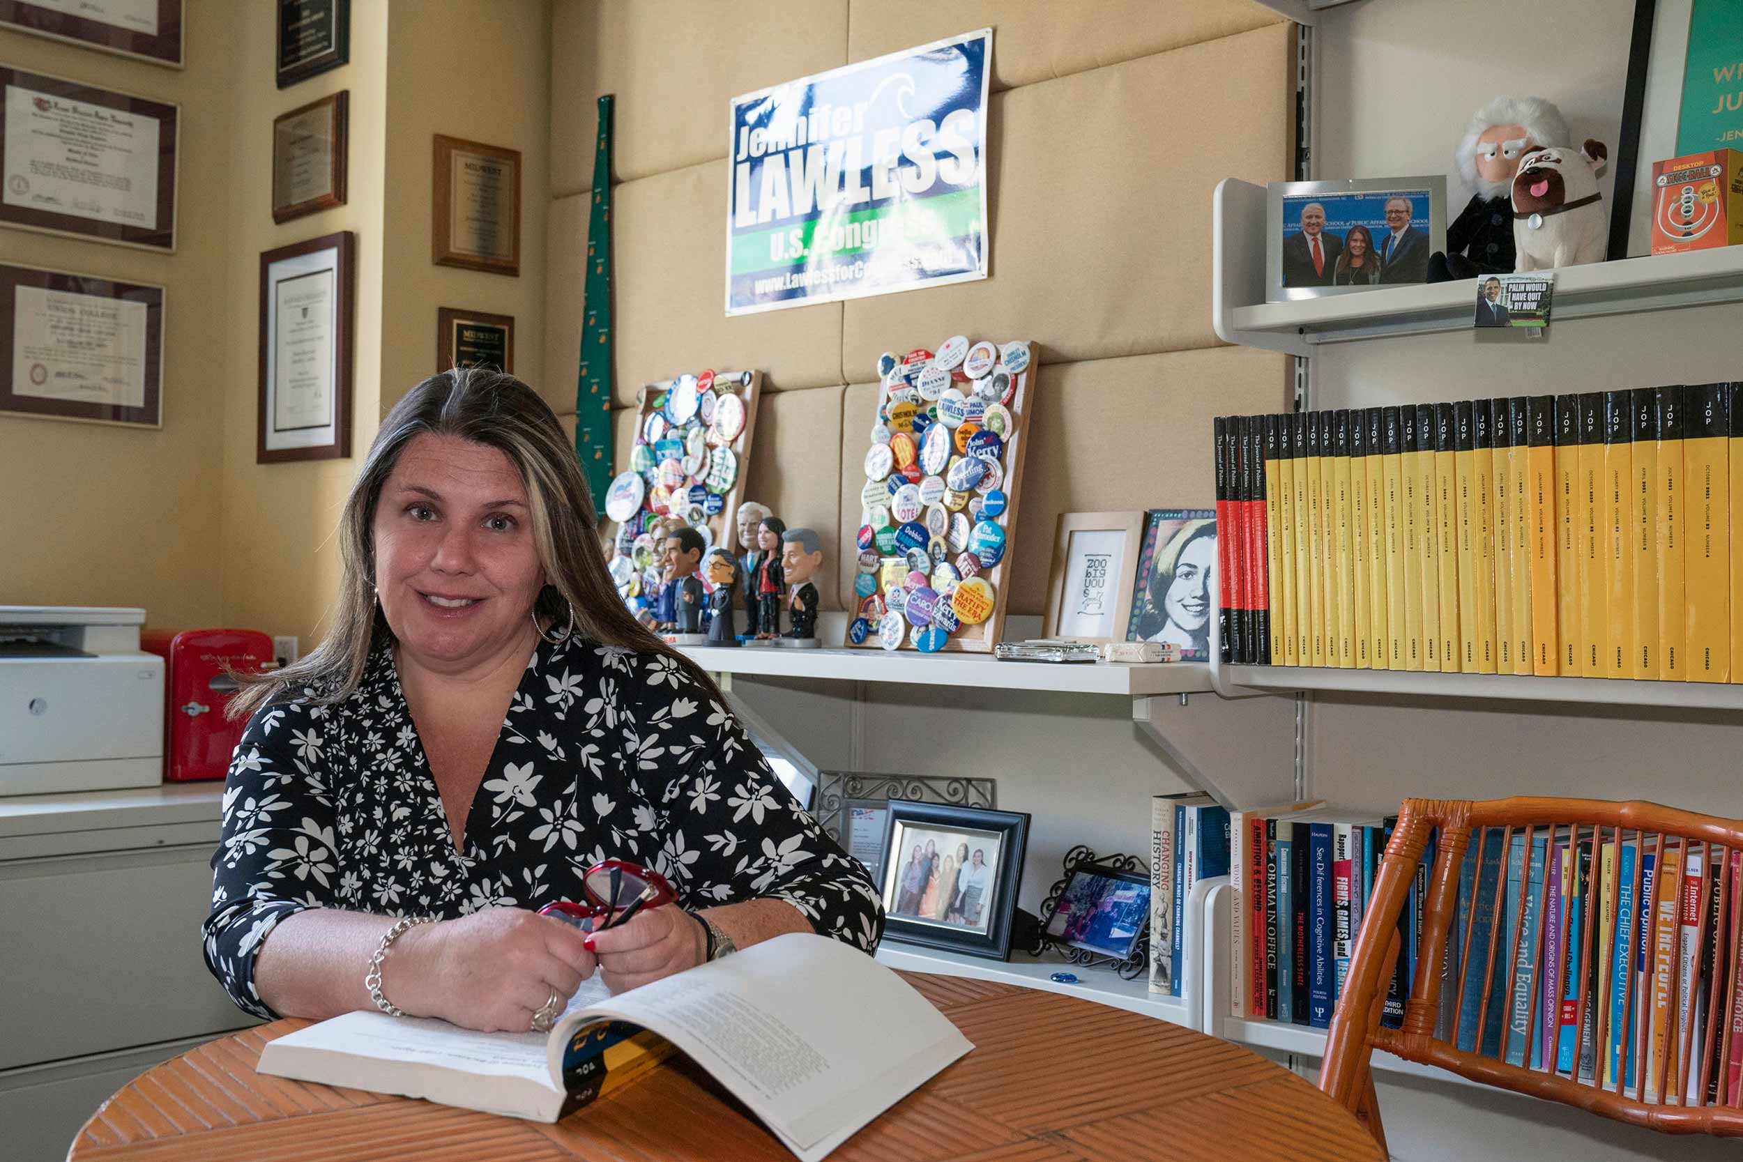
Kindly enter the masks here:
[[[1471, 329], [1476, 280], [1265, 301], [1265, 188], [1217, 186], [1213, 319], [1229, 343], [1307, 355], [1319, 343]], [[1743, 301], [1743, 247], [1658, 254], [1555, 272], [1555, 321]]]

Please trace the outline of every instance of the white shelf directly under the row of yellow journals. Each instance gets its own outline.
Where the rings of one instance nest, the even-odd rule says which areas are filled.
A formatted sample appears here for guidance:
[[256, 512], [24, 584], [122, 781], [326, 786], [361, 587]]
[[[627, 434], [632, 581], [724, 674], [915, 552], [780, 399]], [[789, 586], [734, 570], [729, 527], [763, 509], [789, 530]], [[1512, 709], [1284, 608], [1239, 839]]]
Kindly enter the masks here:
[[1225, 686], [1246, 686], [1251, 690], [1347, 690], [1354, 693], [1398, 693], [1424, 699], [1743, 709], [1743, 685], [1731, 686], [1710, 681], [1436, 674], [1387, 669], [1330, 669], [1325, 665], [1224, 665], [1222, 679]]

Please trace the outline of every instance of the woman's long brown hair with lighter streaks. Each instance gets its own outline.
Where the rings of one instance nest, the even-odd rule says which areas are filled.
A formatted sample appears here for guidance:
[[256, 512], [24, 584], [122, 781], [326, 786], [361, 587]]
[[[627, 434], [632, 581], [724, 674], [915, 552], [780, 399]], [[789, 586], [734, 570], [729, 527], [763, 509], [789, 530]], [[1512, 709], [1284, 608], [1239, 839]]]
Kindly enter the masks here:
[[357, 690], [376, 634], [394, 639], [375, 599], [375, 505], [399, 455], [415, 437], [458, 436], [495, 448], [521, 474], [532, 510], [533, 544], [547, 584], [533, 601], [540, 625], [563, 629], [575, 611], [575, 634], [608, 646], [662, 653], [720, 700], [720, 690], [690, 659], [629, 615], [598, 542], [593, 495], [556, 413], [511, 375], [457, 368], [424, 380], [382, 420], [340, 517], [340, 592], [333, 629], [291, 665], [239, 674], [242, 692], [230, 718], [253, 714], [286, 690], [314, 690], [315, 704], [340, 702]]

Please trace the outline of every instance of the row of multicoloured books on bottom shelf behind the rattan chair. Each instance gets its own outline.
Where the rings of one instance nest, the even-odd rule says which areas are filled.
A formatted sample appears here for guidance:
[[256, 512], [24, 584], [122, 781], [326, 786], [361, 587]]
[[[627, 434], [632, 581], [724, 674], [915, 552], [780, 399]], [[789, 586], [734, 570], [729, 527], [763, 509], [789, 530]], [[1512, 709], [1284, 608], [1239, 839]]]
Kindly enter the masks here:
[[[1306, 805], [1234, 817], [1234, 1016], [1330, 1024], [1391, 824]], [[1438, 840], [1398, 916], [1393, 1028]], [[1647, 1103], [1743, 1106], [1743, 852], [1609, 828], [1487, 828], [1469, 833], [1457, 882], [1436, 1038]]]

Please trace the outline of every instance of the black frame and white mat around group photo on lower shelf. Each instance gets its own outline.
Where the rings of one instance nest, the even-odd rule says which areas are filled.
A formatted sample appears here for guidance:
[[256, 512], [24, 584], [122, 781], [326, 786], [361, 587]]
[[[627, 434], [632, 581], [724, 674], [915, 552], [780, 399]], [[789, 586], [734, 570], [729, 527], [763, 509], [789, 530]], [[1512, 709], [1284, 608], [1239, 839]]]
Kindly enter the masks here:
[[[990, 888], [992, 899], [981, 906], [987, 909], [983, 923], [950, 923], [941, 918], [922, 918], [913, 911], [905, 911], [903, 899], [903, 861], [894, 855], [896, 845], [906, 845], [910, 838], [920, 834], [938, 836], [950, 833], [962, 836], [971, 847], [969, 836], [987, 836], [997, 840], [999, 854], [992, 864]], [[946, 841], [948, 847], [948, 841]], [[878, 892], [884, 899], [884, 939], [924, 948], [941, 948], [969, 956], [988, 960], [1011, 958], [1011, 920], [1016, 913], [1016, 890], [1023, 882], [1023, 857], [1028, 847], [1028, 812], [997, 812], [971, 807], [948, 807], [943, 803], [913, 803], [908, 800], [889, 800], [889, 819], [884, 824], [884, 873], [878, 880]]]

